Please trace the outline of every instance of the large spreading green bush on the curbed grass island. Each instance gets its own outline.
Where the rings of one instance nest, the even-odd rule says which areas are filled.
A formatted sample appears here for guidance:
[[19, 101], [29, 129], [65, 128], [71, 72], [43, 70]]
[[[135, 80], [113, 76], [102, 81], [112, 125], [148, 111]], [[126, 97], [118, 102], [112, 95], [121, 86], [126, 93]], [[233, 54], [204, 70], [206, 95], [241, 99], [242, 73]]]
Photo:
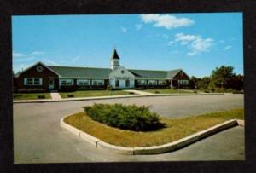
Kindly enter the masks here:
[[149, 107], [122, 104], [94, 104], [84, 107], [86, 114], [102, 124], [123, 130], [147, 131], [162, 127], [159, 115], [149, 112]]

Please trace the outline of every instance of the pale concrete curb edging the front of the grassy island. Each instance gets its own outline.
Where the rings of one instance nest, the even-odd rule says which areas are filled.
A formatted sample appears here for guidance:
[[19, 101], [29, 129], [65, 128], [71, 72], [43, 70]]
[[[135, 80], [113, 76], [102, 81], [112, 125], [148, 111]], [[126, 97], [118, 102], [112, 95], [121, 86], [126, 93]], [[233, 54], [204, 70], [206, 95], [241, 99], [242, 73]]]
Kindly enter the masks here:
[[[70, 116], [70, 115], [69, 115]], [[64, 117], [67, 118], [68, 116]], [[141, 154], [156, 154], [156, 153], [166, 153], [172, 152], [179, 148], [186, 147], [189, 144], [194, 143], [195, 141], [200, 141], [207, 136], [212, 136], [215, 133], [218, 133], [221, 130], [226, 130], [236, 125], [244, 126], [244, 121], [240, 119], [230, 119], [222, 124], [217, 124], [207, 130], [199, 131], [191, 136], [184, 137], [177, 141], [172, 141], [170, 143], [166, 143], [160, 146], [152, 146], [152, 147], [119, 147], [114, 146], [112, 144], [106, 143], [101, 141], [100, 139], [90, 136], [89, 134], [85, 133], [84, 131], [78, 130], [73, 126], [66, 124], [64, 122], [64, 118], [61, 118], [61, 127], [66, 130], [69, 130], [74, 135], [81, 137], [84, 141], [89, 142], [91, 145], [97, 148], [102, 148], [114, 153], [121, 153], [127, 155], [141, 155]]]

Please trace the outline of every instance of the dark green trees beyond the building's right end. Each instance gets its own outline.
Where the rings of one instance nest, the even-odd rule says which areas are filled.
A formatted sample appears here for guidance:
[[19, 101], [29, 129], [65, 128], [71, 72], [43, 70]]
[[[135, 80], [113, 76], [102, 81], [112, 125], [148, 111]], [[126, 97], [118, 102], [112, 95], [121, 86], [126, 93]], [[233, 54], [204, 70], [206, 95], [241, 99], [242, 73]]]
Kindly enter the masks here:
[[212, 92], [241, 91], [243, 90], [243, 75], [233, 72], [233, 66], [216, 67], [210, 76], [190, 78], [191, 89], [201, 89]]

